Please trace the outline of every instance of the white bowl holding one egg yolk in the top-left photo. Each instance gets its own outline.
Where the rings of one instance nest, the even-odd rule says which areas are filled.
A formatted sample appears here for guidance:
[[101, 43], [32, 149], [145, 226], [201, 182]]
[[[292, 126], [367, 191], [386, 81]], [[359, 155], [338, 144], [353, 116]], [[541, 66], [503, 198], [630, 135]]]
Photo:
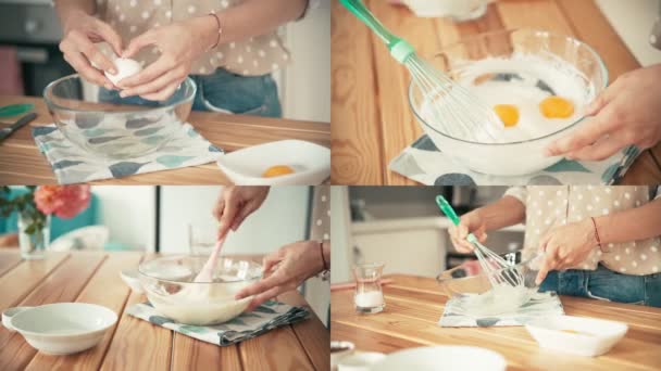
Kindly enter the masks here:
[[[217, 164], [239, 186], [315, 186], [330, 176], [330, 150], [302, 140], [280, 140], [223, 155]], [[262, 177], [276, 165], [290, 166], [296, 172]]]

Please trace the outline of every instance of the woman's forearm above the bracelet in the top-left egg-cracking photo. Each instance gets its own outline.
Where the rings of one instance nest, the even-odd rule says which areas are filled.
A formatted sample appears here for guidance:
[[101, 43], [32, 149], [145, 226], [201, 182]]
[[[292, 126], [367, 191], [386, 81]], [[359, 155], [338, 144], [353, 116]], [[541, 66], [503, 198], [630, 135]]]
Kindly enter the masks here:
[[282, 24], [299, 18], [308, 0], [246, 0], [219, 11], [223, 34], [221, 42], [240, 41], [273, 31]]

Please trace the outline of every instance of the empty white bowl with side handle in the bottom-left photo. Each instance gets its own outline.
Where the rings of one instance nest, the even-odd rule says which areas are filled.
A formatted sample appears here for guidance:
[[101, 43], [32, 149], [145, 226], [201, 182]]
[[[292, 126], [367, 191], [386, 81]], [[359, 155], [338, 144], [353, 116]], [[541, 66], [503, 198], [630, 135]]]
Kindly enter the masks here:
[[89, 349], [116, 321], [114, 311], [87, 303], [16, 307], [2, 312], [2, 324], [8, 330], [17, 331], [29, 345], [49, 355]]

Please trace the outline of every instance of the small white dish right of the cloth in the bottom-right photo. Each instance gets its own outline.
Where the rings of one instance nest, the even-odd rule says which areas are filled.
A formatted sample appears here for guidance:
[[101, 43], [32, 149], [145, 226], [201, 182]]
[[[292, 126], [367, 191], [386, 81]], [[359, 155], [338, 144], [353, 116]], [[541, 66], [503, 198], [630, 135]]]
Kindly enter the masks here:
[[574, 316], [539, 318], [525, 328], [542, 348], [586, 357], [609, 351], [628, 329], [622, 322]]

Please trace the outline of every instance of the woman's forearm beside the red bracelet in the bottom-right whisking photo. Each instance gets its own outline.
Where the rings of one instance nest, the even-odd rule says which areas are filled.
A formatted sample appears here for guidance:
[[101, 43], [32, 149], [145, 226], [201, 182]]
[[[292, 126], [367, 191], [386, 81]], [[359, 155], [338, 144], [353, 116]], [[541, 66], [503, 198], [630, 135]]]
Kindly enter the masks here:
[[601, 243], [622, 243], [661, 235], [661, 199], [640, 207], [595, 218]]

